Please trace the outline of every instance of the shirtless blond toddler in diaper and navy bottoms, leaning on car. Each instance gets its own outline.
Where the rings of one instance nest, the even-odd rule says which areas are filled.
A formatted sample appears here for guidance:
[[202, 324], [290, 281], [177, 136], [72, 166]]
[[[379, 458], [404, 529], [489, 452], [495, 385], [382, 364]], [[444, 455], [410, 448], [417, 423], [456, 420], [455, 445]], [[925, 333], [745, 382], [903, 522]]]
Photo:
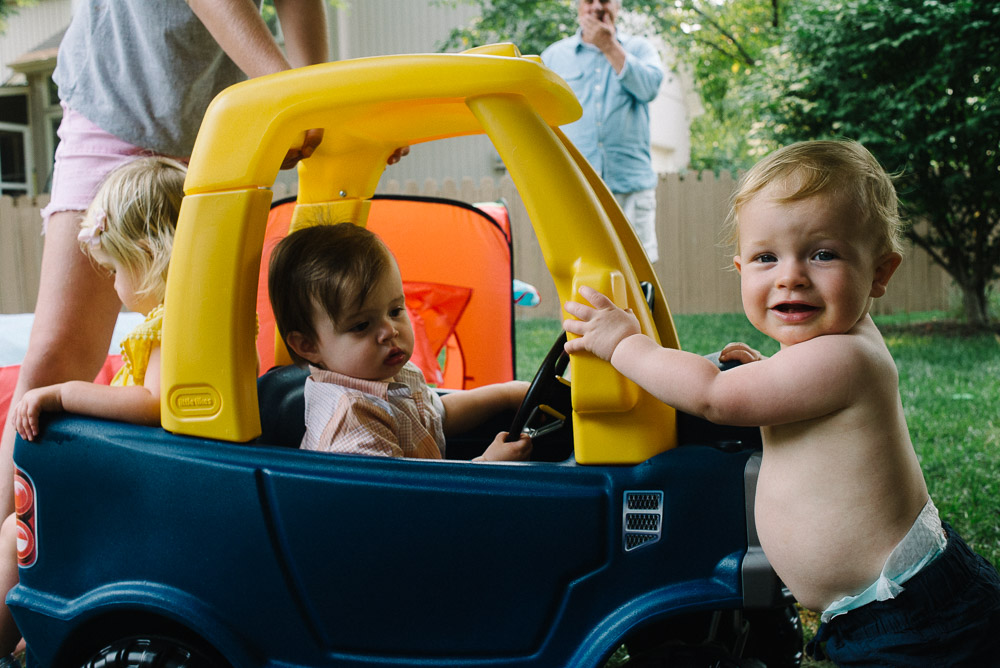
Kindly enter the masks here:
[[895, 363], [869, 315], [899, 266], [891, 178], [856, 142], [802, 142], [741, 180], [730, 213], [743, 306], [781, 344], [710, 361], [661, 348], [636, 318], [582, 288], [565, 329], [675, 408], [762, 425], [760, 542], [805, 607], [810, 651], [842, 666], [986, 666], [1000, 657], [1000, 578], [928, 496]]

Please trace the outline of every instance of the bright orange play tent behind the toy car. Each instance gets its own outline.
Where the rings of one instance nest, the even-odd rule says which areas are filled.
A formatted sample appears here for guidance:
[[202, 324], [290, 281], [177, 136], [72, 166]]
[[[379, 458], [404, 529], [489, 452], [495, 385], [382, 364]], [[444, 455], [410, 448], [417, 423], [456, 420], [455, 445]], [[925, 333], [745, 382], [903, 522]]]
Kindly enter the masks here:
[[[275, 202], [267, 221], [257, 287], [262, 372], [275, 360], [267, 264], [288, 233], [295, 206], [294, 198]], [[412, 359], [428, 383], [469, 389], [513, 379], [512, 244], [506, 207], [375, 196], [367, 227], [399, 263], [416, 335]]]

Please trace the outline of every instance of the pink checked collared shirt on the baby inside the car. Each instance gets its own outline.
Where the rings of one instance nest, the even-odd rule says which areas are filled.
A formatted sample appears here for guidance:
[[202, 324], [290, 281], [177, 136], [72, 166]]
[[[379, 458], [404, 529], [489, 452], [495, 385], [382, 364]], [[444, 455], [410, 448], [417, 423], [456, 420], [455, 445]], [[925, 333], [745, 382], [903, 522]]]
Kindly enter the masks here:
[[314, 366], [306, 380], [305, 450], [441, 459], [441, 399], [413, 363], [390, 381], [362, 380]]

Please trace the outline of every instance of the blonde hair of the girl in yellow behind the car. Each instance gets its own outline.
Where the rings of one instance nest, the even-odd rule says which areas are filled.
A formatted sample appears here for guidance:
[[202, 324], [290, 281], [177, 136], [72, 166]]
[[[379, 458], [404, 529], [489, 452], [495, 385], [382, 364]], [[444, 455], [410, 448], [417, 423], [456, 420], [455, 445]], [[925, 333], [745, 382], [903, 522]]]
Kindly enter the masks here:
[[101, 184], [80, 224], [84, 252], [101, 251], [130, 272], [140, 295], [163, 301], [187, 168], [158, 156], [132, 160]]

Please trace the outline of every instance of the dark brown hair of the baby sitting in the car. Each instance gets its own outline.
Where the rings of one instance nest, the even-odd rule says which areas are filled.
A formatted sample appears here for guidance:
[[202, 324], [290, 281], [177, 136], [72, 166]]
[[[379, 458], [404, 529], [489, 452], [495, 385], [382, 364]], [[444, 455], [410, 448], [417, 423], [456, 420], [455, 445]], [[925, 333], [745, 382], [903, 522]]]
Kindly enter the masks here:
[[[274, 248], [267, 276], [282, 339], [299, 332], [315, 340], [317, 309], [338, 322], [345, 311], [364, 304], [393, 262], [381, 239], [353, 223], [315, 225], [289, 234]], [[298, 364], [306, 362], [288, 348]]]

